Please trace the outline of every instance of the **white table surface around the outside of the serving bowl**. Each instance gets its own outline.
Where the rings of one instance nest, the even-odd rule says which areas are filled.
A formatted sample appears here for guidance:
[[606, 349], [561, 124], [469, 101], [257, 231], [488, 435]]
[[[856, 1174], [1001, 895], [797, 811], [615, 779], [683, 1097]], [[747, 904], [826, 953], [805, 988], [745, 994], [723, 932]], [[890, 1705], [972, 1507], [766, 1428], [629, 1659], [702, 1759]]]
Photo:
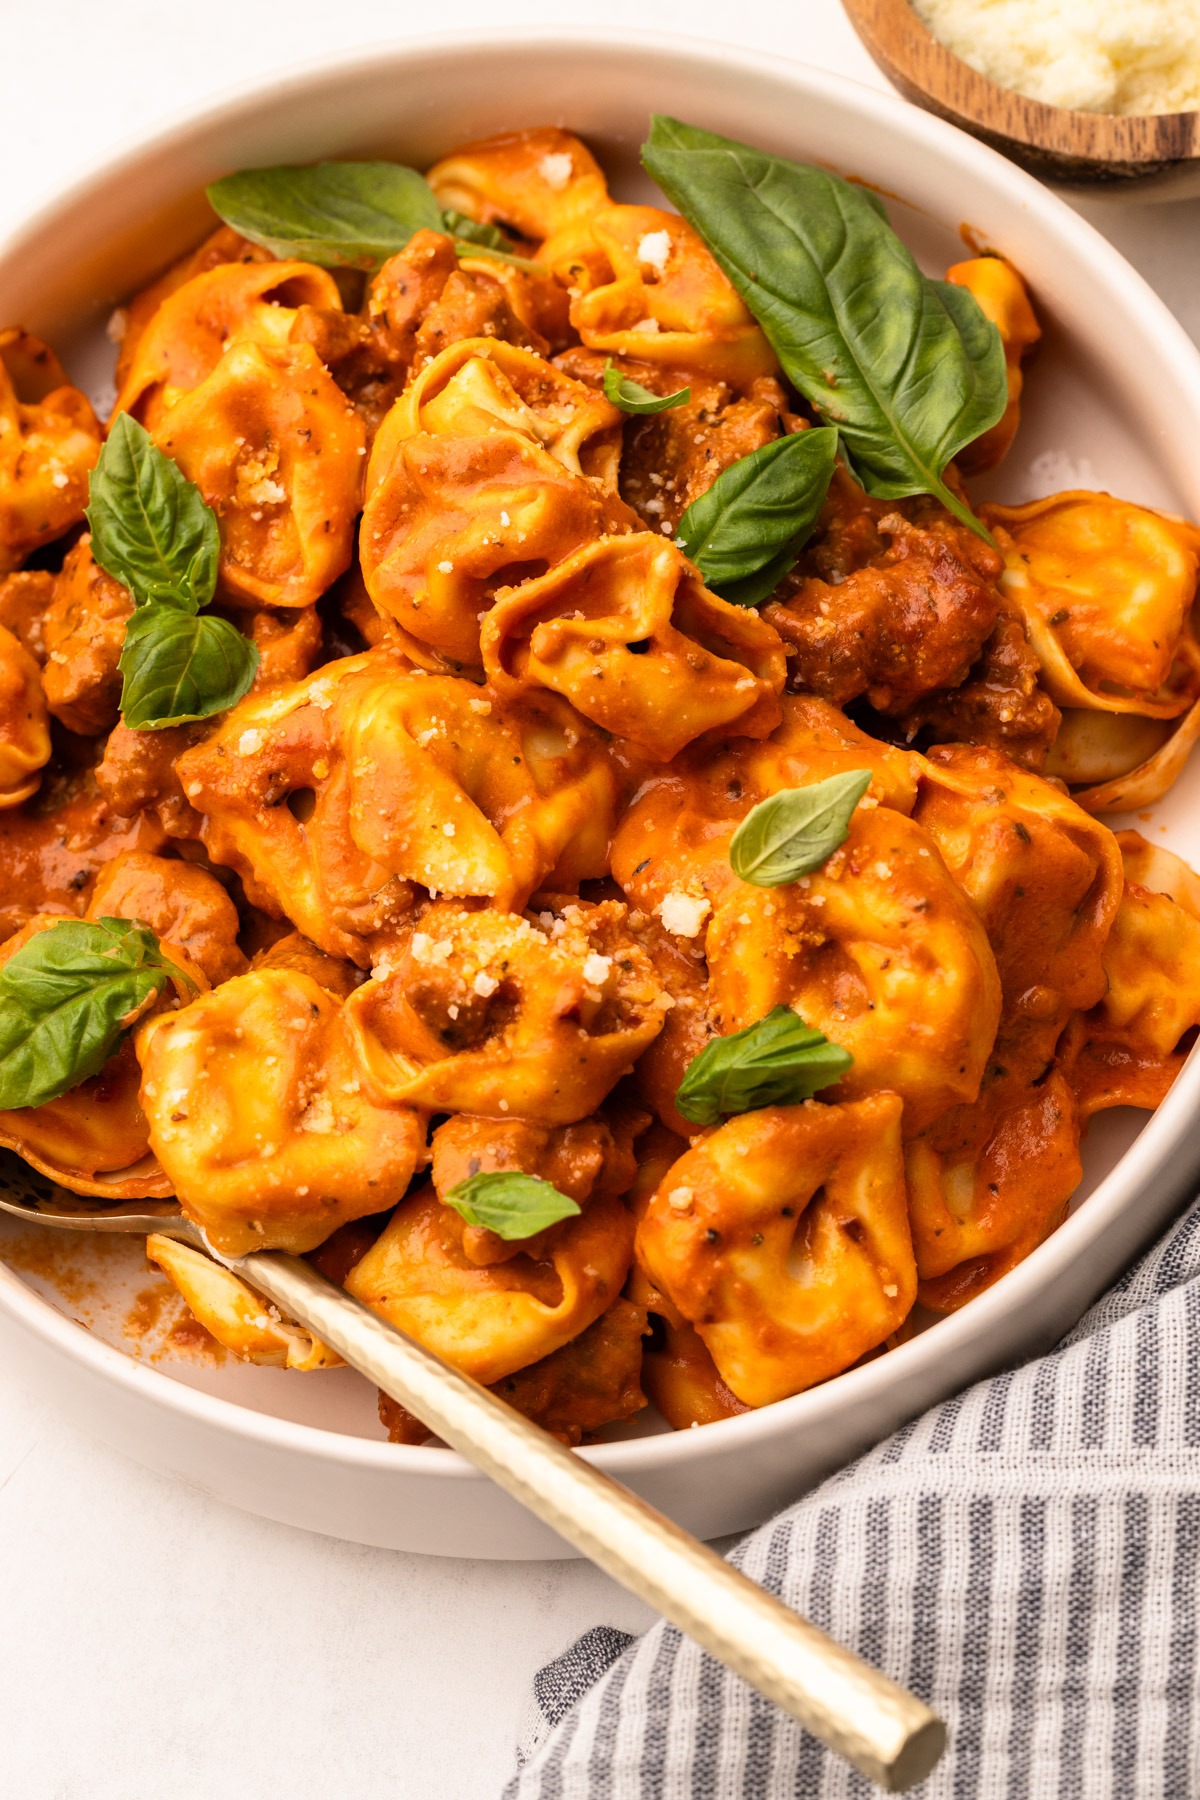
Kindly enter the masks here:
[[[0, 18], [0, 236], [180, 108], [428, 29], [678, 31], [883, 85], [838, 0], [4, 0]], [[1200, 337], [1200, 202], [1087, 212]], [[648, 1620], [579, 1562], [398, 1555], [232, 1512], [43, 1417], [0, 1372], [11, 1800], [495, 1800], [534, 1669], [592, 1624]]]

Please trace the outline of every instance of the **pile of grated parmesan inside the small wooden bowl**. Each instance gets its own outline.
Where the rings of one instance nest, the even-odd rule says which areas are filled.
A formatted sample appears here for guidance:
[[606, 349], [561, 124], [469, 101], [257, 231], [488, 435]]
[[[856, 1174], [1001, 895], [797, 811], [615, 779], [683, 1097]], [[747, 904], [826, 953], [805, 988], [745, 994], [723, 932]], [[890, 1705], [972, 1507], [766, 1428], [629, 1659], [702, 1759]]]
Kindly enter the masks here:
[[1200, 0], [914, 0], [946, 49], [1045, 106], [1200, 108]]

